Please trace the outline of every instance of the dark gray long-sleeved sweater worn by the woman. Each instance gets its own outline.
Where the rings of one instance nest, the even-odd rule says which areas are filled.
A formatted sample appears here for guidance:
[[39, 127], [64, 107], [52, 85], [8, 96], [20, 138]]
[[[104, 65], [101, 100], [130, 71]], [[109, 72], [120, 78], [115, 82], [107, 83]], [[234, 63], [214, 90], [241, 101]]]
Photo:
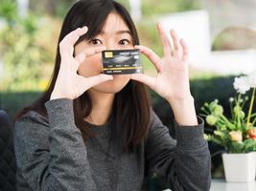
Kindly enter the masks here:
[[139, 191], [146, 176], [157, 174], [174, 191], [207, 191], [210, 155], [198, 126], [179, 126], [176, 139], [151, 112], [149, 137], [134, 154], [111, 143], [111, 119], [90, 125], [96, 138], [85, 143], [76, 127], [71, 99], [45, 103], [48, 118], [31, 111], [14, 125], [17, 191]]

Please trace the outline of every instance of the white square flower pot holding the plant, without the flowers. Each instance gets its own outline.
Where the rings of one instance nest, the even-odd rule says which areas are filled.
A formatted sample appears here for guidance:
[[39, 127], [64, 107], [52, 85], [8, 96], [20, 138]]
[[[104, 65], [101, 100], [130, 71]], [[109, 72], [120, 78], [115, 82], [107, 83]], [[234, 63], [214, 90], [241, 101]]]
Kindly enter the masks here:
[[225, 180], [248, 182], [256, 177], [256, 153], [222, 154]]

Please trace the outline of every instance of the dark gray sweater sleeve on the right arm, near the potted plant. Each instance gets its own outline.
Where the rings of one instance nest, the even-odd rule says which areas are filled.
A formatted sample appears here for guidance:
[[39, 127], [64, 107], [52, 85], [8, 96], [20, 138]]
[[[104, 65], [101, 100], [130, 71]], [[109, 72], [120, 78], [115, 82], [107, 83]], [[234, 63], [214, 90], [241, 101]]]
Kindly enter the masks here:
[[197, 126], [179, 126], [175, 136], [152, 112], [151, 129], [146, 141], [146, 175], [157, 174], [173, 191], [207, 191], [211, 182], [211, 162], [207, 141], [203, 139], [204, 122]]

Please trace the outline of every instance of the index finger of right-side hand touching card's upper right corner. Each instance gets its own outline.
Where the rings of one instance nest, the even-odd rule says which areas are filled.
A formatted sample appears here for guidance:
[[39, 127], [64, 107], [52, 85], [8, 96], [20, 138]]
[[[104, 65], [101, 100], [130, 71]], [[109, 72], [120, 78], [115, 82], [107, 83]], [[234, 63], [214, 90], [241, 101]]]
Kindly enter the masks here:
[[141, 53], [144, 53], [151, 60], [158, 73], [161, 71], [161, 58], [156, 53], [143, 45], [135, 45], [134, 48], [139, 49]]

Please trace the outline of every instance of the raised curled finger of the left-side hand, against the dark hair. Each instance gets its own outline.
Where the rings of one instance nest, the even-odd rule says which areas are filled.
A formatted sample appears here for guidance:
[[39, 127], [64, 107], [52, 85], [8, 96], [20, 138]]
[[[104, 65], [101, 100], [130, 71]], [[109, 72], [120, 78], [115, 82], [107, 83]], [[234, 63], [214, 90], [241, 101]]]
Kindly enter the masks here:
[[68, 33], [59, 43], [59, 51], [61, 55], [73, 55], [74, 44], [80, 38], [81, 35], [86, 33], [88, 28], [78, 28], [77, 30]]

